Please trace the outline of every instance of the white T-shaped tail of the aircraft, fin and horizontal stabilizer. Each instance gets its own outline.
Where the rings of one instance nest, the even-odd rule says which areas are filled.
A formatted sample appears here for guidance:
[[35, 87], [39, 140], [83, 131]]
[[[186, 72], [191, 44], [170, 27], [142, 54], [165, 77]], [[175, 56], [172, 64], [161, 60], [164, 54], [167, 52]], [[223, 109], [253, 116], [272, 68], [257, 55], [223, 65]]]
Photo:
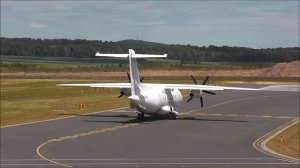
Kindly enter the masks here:
[[139, 95], [140, 76], [139, 76], [138, 66], [136, 63], [136, 58], [165, 58], [167, 57], [167, 54], [163, 54], [163, 55], [135, 54], [134, 50], [129, 49], [128, 54], [100, 54], [99, 52], [97, 52], [95, 56], [128, 58], [129, 68], [130, 68], [131, 95]]

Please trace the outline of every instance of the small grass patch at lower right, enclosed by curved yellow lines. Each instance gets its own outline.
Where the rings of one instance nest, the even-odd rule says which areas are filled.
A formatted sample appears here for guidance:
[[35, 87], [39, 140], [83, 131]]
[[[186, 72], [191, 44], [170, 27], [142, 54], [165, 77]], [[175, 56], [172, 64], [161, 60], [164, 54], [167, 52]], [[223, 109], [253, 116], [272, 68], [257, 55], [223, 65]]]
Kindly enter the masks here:
[[[300, 159], [299, 154], [299, 122], [277, 135], [267, 143], [267, 147], [275, 152]], [[283, 141], [281, 142], [281, 136]]]

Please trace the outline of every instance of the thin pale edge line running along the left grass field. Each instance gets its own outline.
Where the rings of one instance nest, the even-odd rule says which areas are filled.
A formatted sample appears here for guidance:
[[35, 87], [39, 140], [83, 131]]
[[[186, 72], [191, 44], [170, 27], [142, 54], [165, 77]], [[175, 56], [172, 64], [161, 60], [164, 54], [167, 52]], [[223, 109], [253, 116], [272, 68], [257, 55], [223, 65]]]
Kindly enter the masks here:
[[[104, 111], [97, 111], [97, 112], [91, 112], [91, 113], [86, 113], [86, 114], [81, 114], [81, 115], [84, 116], [84, 115], [91, 115], [91, 114], [97, 114], [97, 113], [104, 113], [104, 112], [110, 112], [110, 111], [115, 111], [115, 110], [121, 110], [121, 109], [125, 109], [125, 108], [128, 108], [128, 107], [120, 107], [120, 108], [109, 109], [109, 110], [104, 110]], [[40, 121], [32, 121], [32, 122], [26, 122], [26, 123], [20, 123], [20, 124], [6, 125], [6, 126], [2, 126], [0, 128], [2, 129], [2, 128], [22, 126], [22, 125], [37, 124], [37, 123], [43, 123], [43, 122], [48, 122], [48, 121], [56, 121], [56, 120], [61, 120], [61, 119], [73, 118], [73, 117], [76, 117], [76, 115], [68, 116], [68, 117], [52, 118], [52, 119], [40, 120]]]

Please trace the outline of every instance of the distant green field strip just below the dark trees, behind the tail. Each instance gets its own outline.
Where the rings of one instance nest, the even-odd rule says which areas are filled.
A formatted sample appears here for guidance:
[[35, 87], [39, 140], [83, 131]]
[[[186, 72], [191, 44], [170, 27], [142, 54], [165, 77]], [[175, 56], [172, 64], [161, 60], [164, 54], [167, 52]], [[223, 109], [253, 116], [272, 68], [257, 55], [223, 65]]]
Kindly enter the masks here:
[[[180, 64], [179, 60], [140, 59], [141, 70], [145, 69], [259, 69], [271, 67], [274, 63], [257, 62], [201, 62], [199, 64]], [[68, 58], [1, 56], [1, 72], [58, 72], [58, 71], [127, 71], [128, 60], [112, 58]]]

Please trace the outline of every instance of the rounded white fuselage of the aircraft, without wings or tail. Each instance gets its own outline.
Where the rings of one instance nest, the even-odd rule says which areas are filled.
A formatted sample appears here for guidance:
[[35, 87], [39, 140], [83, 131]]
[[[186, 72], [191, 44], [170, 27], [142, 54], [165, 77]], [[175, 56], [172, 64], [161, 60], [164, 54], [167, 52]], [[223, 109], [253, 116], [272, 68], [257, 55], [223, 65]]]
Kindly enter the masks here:
[[165, 89], [161, 86], [140, 85], [138, 99], [129, 98], [139, 112], [148, 115], [167, 115], [176, 113], [176, 107], [182, 101], [178, 89]]

